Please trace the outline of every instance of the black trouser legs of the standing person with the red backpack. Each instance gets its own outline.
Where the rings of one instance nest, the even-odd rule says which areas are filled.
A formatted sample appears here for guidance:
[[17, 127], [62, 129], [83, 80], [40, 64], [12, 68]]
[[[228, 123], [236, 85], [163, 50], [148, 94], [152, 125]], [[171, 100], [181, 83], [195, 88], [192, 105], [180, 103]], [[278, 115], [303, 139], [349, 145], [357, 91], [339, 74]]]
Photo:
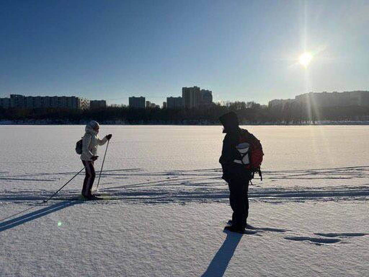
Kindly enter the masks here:
[[249, 214], [248, 179], [236, 179], [228, 182], [230, 189], [230, 204], [232, 208], [232, 225], [237, 229], [245, 229]]

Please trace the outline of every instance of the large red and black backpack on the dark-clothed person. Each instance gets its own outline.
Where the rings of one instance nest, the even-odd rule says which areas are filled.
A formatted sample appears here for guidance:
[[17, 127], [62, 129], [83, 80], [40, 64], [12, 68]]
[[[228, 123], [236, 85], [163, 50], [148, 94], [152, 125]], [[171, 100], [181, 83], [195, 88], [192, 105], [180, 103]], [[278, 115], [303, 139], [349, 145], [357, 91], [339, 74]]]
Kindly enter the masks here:
[[258, 172], [260, 179], [263, 180], [260, 166], [264, 153], [260, 140], [247, 130], [241, 129], [236, 149], [241, 154], [241, 159], [235, 159], [233, 162], [245, 165], [246, 170], [251, 171], [252, 178], [254, 178], [255, 172]]

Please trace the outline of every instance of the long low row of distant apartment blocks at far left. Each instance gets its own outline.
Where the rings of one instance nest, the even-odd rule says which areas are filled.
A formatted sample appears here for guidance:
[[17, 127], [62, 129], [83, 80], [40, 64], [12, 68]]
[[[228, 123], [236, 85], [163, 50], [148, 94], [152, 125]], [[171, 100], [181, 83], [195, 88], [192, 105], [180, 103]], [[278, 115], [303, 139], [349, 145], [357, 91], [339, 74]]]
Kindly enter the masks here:
[[10, 98], [0, 98], [0, 107], [4, 109], [99, 109], [106, 107], [106, 100], [88, 100], [76, 96], [24, 96], [11, 94]]

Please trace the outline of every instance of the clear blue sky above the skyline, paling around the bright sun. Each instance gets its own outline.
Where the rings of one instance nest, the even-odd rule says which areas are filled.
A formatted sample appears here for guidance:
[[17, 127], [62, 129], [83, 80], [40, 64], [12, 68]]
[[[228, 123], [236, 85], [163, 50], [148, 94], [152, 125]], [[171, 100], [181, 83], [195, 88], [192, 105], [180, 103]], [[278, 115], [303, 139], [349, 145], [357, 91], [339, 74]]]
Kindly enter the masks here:
[[[369, 1], [0, 1], [0, 97], [369, 90]], [[309, 51], [305, 68], [299, 56]]]

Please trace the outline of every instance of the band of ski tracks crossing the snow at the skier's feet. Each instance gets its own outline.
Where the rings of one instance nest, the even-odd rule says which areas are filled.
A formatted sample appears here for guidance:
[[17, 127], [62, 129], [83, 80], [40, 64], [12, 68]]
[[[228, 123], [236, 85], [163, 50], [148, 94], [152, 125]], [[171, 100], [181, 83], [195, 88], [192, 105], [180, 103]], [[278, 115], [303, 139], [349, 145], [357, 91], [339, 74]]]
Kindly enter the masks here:
[[[4, 189], [0, 201], [37, 201], [45, 199], [76, 172], [33, 173], [14, 175], [0, 172]], [[98, 177], [99, 172], [97, 172]], [[338, 201], [340, 199], [365, 199], [369, 196], [369, 184], [346, 185], [344, 180], [362, 180], [369, 174], [369, 166], [321, 168], [307, 170], [265, 171], [264, 180], [255, 178], [249, 186], [249, 198], [266, 202]], [[68, 184], [55, 199], [70, 199], [79, 195], [83, 172]], [[275, 181], [300, 179], [317, 181], [314, 187], [280, 187]], [[339, 185], [324, 185], [331, 179], [343, 180]], [[23, 186], [14, 190], [17, 182]], [[137, 182], [138, 181], [138, 182]], [[96, 183], [96, 182], [95, 182]], [[8, 184], [8, 186], [6, 186]], [[40, 186], [41, 185], [41, 186]], [[96, 185], [96, 184], [95, 184]], [[42, 189], [40, 189], [40, 187]], [[76, 189], [77, 187], [77, 189]], [[221, 179], [220, 168], [198, 170], [172, 170], [145, 172], [141, 168], [104, 170], [101, 174], [99, 192], [110, 199], [134, 202], [225, 202], [228, 201], [228, 186]]]

